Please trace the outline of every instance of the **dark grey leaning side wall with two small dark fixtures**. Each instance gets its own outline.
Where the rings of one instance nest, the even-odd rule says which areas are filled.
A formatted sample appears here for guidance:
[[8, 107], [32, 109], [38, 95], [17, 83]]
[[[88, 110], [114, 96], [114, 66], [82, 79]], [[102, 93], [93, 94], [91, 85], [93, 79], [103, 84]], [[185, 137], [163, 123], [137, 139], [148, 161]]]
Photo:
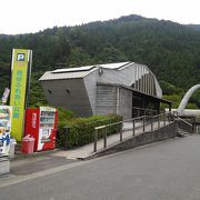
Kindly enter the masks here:
[[50, 106], [63, 107], [80, 117], [92, 116], [82, 79], [42, 81], [42, 88]]

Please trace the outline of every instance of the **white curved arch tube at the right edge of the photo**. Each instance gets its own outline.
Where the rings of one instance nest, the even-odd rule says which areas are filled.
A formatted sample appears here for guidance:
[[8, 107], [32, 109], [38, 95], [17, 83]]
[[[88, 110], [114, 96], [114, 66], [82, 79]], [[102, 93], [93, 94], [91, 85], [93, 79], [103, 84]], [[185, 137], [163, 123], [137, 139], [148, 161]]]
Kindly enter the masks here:
[[178, 108], [178, 110], [177, 110], [179, 116], [182, 116], [183, 110], [184, 110], [184, 108], [186, 108], [186, 106], [187, 106], [190, 97], [191, 97], [191, 96], [193, 94], [193, 92], [194, 92], [196, 90], [198, 90], [198, 89], [200, 89], [200, 84], [193, 86], [193, 87], [190, 88], [190, 89], [188, 90], [188, 92], [184, 94], [184, 97], [182, 98], [182, 101], [180, 102], [179, 108]]

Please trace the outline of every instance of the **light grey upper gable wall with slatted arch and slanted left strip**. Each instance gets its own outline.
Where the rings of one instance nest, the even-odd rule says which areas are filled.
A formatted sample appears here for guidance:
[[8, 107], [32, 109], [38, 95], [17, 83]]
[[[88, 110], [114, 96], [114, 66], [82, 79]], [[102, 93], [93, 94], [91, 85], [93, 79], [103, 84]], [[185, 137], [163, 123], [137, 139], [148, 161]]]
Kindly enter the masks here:
[[[121, 70], [101, 70], [102, 73], [99, 73], [99, 69], [97, 68], [97, 70], [93, 70], [83, 78], [93, 114], [98, 114], [99, 112], [96, 110], [98, 108], [96, 104], [97, 82], [124, 84], [128, 87], [133, 87], [136, 90], [157, 96], [154, 77], [146, 66], [131, 63], [129, 67]], [[127, 117], [130, 116], [130, 113], [127, 114]]]

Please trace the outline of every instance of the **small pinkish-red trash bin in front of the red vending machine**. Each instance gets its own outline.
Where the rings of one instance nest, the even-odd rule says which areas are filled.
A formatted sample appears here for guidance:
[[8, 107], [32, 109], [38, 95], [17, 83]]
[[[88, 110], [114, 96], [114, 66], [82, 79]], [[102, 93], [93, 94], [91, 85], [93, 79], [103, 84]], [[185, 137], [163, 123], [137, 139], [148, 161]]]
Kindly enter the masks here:
[[29, 153], [33, 153], [33, 151], [34, 151], [34, 138], [31, 134], [27, 134], [22, 139], [21, 152], [29, 154]]

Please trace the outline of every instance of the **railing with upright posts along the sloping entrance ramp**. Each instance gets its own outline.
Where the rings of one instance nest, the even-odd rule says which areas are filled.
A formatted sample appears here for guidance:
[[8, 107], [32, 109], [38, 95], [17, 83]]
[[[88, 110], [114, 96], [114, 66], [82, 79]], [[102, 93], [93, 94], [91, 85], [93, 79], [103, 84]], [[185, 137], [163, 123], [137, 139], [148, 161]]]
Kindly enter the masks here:
[[[163, 122], [162, 127], [167, 126], [171, 123], [172, 121], [174, 121], [174, 116], [172, 113], [161, 113], [161, 114], [157, 114], [157, 116], [142, 116], [142, 117], [138, 117], [138, 118], [133, 118], [133, 119], [129, 119], [129, 120], [123, 120], [123, 121], [119, 121], [119, 122], [114, 122], [114, 123], [110, 123], [110, 124], [104, 124], [104, 126], [100, 126], [100, 127], [96, 127], [94, 128], [94, 141], [93, 141], [93, 152], [97, 152], [97, 143], [98, 143], [98, 133], [100, 130], [103, 130], [103, 148], [107, 148], [107, 129], [109, 127], [112, 126], [119, 126], [124, 123], [124, 122], [131, 122], [132, 123], [132, 137], [136, 136], [136, 130], [138, 128], [142, 128], [142, 132], [146, 132], [146, 127], [151, 124], [150, 130], [153, 131], [156, 129], [160, 129], [161, 127], [161, 121]], [[140, 122], [141, 126], [136, 126], [137, 122]], [[154, 127], [154, 122], [157, 122], [157, 127]], [[123, 131], [122, 128], [119, 131], [119, 142], [123, 141]]]

